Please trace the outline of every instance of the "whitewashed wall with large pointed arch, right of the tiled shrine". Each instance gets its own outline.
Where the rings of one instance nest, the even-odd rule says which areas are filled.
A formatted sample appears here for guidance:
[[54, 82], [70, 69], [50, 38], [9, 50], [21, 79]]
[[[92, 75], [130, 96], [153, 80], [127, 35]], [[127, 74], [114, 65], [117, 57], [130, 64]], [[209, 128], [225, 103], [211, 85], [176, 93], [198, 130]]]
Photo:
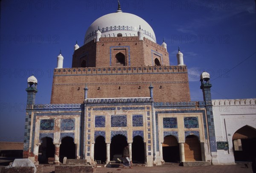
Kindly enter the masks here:
[[228, 144], [228, 149], [217, 150], [218, 163], [235, 164], [255, 157], [256, 99], [212, 100], [212, 105], [217, 149], [218, 142]]

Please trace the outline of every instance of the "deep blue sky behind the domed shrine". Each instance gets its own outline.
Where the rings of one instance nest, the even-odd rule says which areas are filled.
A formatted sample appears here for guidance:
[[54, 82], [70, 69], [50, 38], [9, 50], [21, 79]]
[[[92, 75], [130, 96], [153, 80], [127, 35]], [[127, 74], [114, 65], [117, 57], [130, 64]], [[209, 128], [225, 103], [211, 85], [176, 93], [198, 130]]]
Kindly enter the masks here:
[[[117, 0], [116, 0], [117, 1]], [[38, 79], [36, 103], [48, 104], [61, 49], [64, 68], [94, 20], [115, 12], [115, 0], [2, 0], [0, 20], [0, 141], [23, 142], [27, 78]], [[203, 100], [199, 76], [211, 75], [212, 99], [256, 98], [254, 0], [120, 0], [164, 38], [171, 65], [177, 47], [189, 69], [192, 101]]]

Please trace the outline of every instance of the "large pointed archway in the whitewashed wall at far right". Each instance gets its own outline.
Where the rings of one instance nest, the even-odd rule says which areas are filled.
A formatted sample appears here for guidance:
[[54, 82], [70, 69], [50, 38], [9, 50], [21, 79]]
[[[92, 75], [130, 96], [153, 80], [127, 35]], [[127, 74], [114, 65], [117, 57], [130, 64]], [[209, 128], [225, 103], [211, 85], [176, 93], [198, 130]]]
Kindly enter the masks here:
[[235, 161], [252, 161], [256, 157], [256, 129], [248, 125], [237, 130], [233, 137]]

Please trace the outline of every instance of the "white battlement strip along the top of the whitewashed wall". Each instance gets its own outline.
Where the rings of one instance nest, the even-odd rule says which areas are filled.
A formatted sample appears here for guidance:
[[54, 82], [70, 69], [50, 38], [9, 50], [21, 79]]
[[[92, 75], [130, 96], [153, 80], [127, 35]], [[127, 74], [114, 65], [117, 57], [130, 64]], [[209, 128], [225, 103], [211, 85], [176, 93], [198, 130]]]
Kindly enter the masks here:
[[220, 99], [212, 100], [213, 106], [239, 106], [239, 105], [256, 105], [256, 99]]

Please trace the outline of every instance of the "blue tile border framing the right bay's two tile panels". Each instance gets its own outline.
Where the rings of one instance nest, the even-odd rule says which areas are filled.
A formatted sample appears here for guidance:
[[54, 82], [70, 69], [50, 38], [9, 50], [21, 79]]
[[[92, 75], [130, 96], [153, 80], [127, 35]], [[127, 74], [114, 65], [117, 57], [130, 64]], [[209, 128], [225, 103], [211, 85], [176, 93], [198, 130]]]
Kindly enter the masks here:
[[[158, 132], [158, 113], [202, 113], [204, 119], [204, 134], [205, 139], [208, 139], [207, 136], [207, 125], [205, 119], [205, 111], [204, 110], [178, 110], [178, 111], [155, 111], [155, 119], [156, 119], [156, 139], [157, 139], [157, 151], [159, 151], [159, 132]], [[217, 148], [216, 148], [217, 150]]]

